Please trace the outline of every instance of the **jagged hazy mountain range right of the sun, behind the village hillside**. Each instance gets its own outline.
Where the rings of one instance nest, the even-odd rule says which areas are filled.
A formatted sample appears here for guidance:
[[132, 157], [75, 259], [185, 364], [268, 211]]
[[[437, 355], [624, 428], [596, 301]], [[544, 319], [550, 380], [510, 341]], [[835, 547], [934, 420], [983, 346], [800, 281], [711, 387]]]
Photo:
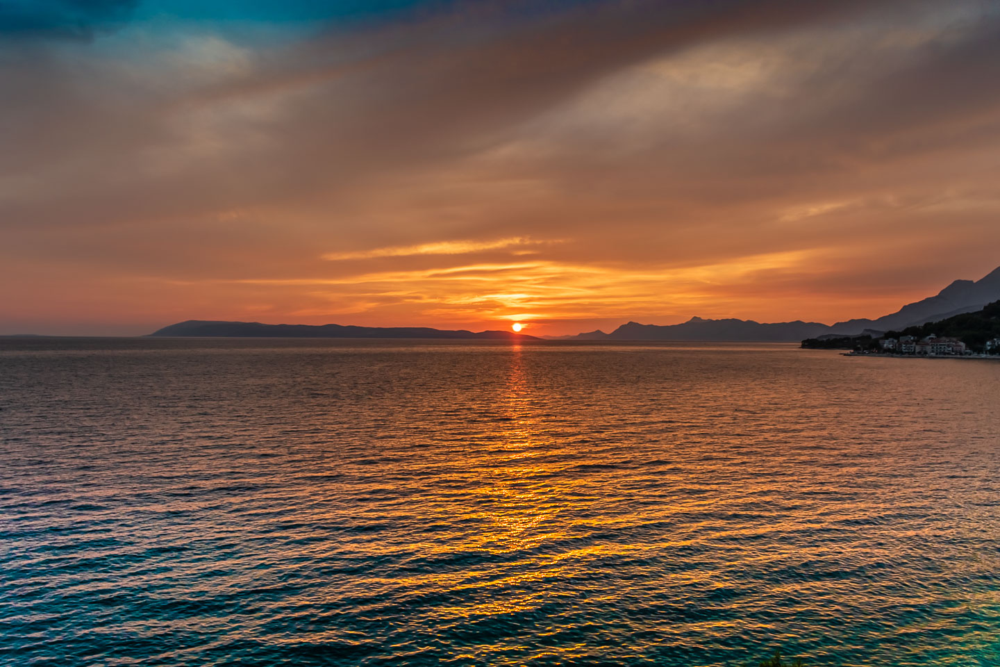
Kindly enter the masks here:
[[875, 320], [856, 319], [833, 326], [820, 322], [775, 322], [762, 324], [753, 320], [705, 320], [692, 317], [682, 324], [659, 326], [628, 322], [609, 334], [601, 331], [562, 336], [562, 340], [700, 340], [717, 342], [798, 342], [804, 338], [881, 335], [885, 331], [920, 326], [955, 315], [982, 310], [1000, 300], [1000, 267], [980, 280], [956, 280], [936, 296], [903, 306], [897, 312]]

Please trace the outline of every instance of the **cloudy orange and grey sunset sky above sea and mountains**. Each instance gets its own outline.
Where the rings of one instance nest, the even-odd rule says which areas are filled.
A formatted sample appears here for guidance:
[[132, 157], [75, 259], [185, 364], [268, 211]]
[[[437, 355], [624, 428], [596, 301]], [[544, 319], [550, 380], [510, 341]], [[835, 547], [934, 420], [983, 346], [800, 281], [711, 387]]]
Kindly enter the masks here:
[[0, 0], [0, 334], [878, 317], [1000, 265], [998, 81], [998, 0]]

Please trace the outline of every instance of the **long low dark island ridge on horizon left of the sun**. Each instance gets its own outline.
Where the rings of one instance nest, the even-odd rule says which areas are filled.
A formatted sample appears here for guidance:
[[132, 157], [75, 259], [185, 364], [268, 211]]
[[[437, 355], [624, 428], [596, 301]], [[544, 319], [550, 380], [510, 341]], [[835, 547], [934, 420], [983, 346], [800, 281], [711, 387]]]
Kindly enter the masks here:
[[261, 324], [188, 320], [163, 327], [150, 336], [230, 338], [450, 338], [465, 340], [540, 340], [512, 331], [448, 331], [427, 327], [356, 327], [339, 324]]

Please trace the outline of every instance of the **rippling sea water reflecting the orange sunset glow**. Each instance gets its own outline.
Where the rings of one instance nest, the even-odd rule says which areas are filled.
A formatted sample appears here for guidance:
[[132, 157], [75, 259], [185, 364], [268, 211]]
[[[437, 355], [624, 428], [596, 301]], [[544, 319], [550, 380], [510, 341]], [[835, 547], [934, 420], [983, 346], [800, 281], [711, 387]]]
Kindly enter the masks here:
[[1000, 664], [1000, 363], [0, 342], [5, 665]]

